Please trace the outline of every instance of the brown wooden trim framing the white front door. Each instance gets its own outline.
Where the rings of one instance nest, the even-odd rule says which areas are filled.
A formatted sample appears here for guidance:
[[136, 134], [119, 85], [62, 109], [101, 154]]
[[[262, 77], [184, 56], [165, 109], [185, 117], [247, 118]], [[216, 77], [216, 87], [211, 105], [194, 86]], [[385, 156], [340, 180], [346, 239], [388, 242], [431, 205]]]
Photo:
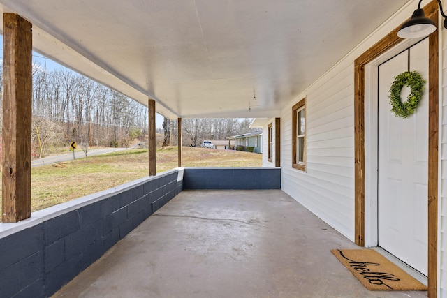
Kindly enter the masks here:
[[[424, 7], [427, 17], [438, 22], [438, 3]], [[402, 42], [395, 28], [354, 61], [354, 158], [355, 239], [365, 246], [365, 66]], [[439, 137], [439, 32], [429, 36], [428, 124], [428, 297], [437, 297], [438, 249], [438, 137]]]

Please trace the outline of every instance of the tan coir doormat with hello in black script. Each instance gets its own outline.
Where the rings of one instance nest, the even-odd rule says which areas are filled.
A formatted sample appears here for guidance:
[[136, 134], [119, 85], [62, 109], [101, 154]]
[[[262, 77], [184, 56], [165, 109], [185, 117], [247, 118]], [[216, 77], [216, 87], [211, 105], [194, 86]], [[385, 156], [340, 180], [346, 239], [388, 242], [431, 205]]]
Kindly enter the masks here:
[[372, 249], [332, 249], [331, 252], [370, 291], [427, 290], [425, 285]]

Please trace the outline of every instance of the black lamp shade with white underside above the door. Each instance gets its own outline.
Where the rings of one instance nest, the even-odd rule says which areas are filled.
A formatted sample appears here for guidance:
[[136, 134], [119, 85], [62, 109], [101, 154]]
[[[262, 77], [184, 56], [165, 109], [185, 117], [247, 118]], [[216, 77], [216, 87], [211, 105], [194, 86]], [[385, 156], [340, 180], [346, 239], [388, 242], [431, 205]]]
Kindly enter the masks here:
[[428, 17], [425, 17], [424, 10], [418, 8], [414, 10], [411, 19], [400, 27], [397, 36], [400, 38], [420, 38], [430, 35], [436, 30], [436, 24]]

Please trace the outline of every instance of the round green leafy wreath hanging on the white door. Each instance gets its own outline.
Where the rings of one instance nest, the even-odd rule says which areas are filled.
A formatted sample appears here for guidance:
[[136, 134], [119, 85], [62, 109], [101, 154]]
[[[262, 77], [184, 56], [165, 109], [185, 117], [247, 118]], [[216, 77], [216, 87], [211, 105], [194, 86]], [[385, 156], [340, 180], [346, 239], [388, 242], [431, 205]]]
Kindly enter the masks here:
[[[390, 88], [390, 105], [391, 112], [395, 113], [395, 117], [406, 118], [413, 114], [418, 106], [419, 100], [422, 97], [422, 91], [427, 80], [420, 77], [417, 71], [406, 71], [395, 77], [395, 81]], [[411, 89], [406, 101], [402, 103], [400, 92], [402, 87], [408, 86]]]

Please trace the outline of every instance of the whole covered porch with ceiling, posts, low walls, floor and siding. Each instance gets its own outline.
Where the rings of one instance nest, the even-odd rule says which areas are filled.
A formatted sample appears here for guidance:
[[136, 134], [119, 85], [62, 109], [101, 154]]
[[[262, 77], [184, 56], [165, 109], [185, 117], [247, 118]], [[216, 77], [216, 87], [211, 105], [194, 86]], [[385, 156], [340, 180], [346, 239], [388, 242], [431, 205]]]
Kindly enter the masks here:
[[[376, 225], [365, 221], [374, 214], [365, 212], [365, 195], [377, 198], [366, 193], [376, 189], [367, 184], [376, 167], [365, 163], [365, 152], [376, 146], [365, 134], [372, 115], [365, 116], [365, 67], [374, 55], [407, 45], [396, 32], [414, 2], [0, 1], [2, 197], [9, 199], [0, 225], [2, 295], [47, 297], [67, 283], [57, 295], [427, 295], [367, 292], [330, 254], [356, 247], [354, 240], [377, 245]], [[437, 1], [424, 7], [437, 24]], [[316, 16], [323, 22], [314, 25]], [[430, 209], [427, 253], [416, 258], [427, 257], [429, 297], [447, 293], [445, 206], [438, 200], [446, 183], [438, 156], [446, 144], [442, 30], [429, 37], [424, 56], [430, 163], [420, 198]], [[147, 105], [150, 177], [31, 215], [31, 50]], [[300, 111], [304, 135], [292, 129]], [[156, 175], [155, 112], [177, 119], [179, 128], [188, 118], [258, 119], [266, 168], [184, 170], [178, 132], [179, 168]], [[296, 137], [306, 150], [298, 161]], [[191, 189], [202, 191], [184, 191]]]

